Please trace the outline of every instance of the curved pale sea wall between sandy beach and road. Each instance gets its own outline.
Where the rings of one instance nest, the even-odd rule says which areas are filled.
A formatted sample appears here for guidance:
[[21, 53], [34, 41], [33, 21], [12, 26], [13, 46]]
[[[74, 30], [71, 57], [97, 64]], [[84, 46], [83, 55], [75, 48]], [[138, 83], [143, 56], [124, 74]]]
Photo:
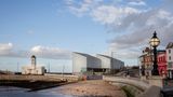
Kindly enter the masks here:
[[160, 87], [139, 79], [104, 75], [103, 80], [118, 84], [131, 97], [160, 97]]

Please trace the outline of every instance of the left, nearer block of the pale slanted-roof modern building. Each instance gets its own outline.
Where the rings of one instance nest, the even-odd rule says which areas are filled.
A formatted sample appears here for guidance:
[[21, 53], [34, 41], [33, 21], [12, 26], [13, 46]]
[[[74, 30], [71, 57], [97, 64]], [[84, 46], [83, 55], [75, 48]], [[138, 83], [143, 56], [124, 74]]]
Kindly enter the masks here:
[[72, 53], [72, 73], [79, 74], [101, 68], [101, 60], [83, 53]]

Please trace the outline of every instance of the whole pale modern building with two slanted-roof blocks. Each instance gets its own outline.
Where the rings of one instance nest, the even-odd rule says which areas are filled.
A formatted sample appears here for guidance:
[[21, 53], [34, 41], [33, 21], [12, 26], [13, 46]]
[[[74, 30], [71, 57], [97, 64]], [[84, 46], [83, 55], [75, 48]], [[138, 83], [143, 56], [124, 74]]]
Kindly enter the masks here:
[[72, 73], [79, 74], [83, 72], [105, 72], [121, 69], [124, 67], [124, 63], [106, 56], [97, 54], [96, 57], [83, 53], [72, 53]]

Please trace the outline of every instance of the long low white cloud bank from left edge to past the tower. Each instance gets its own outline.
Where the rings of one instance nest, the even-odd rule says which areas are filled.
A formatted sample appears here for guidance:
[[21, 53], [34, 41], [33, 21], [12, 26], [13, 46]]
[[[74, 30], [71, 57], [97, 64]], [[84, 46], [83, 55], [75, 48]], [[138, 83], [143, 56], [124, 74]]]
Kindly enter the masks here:
[[29, 57], [32, 54], [40, 58], [52, 58], [52, 59], [70, 59], [71, 55], [69, 51], [58, 47], [36, 45], [30, 50], [23, 51], [15, 48], [12, 43], [0, 43], [0, 56]]

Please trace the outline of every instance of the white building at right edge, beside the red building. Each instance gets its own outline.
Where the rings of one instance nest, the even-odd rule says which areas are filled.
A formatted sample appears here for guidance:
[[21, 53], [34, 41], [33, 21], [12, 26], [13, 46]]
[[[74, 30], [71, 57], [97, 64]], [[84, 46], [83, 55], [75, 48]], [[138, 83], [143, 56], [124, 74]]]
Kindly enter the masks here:
[[168, 77], [173, 79], [173, 42], [167, 45]]

